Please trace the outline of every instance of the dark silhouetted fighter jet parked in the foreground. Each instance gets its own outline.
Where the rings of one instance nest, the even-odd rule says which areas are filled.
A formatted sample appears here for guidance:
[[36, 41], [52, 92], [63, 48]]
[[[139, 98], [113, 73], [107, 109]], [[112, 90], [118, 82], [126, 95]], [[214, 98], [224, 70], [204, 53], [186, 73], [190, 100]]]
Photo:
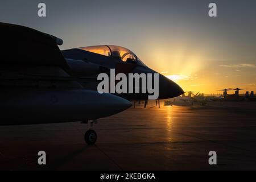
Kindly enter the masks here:
[[[63, 40], [56, 36], [9, 23], [0, 23], [0, 29], [0, 125], [76, 121], [92, 125], [128, 109], [129, 100], [147, 100], [150, 95], [98, 93], [98, 74], [109, 74], [110, 69], [126, 75], [158, 73], [124, 47], [60, 51]], [[179, 85], [159, 74], [159, 99], [180, 94]], [[89, 129], [84, 139], [94, 144], [97, 134]]]

